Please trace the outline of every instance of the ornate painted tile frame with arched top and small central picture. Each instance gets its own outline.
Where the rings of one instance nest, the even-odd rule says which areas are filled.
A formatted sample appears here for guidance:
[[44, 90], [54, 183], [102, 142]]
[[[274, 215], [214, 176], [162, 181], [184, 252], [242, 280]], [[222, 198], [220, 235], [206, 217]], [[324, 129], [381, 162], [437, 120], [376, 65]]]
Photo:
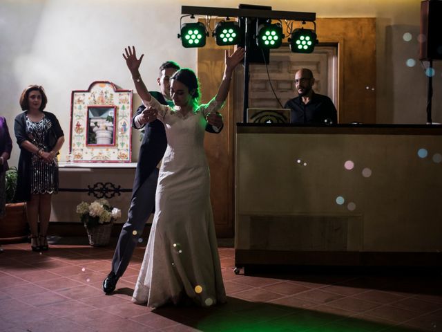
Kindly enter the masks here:
[[95, 81], [71, 95], [69, 153], [73, 163], [131, 163], [132, 90]]

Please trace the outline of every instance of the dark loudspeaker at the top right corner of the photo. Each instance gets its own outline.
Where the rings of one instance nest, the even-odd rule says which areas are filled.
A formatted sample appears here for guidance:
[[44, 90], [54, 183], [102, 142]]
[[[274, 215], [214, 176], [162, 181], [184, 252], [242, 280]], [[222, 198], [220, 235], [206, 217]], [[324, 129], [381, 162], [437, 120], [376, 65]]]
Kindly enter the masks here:
[[442, 1], [421, 2], [419, 60], [442, 59]]

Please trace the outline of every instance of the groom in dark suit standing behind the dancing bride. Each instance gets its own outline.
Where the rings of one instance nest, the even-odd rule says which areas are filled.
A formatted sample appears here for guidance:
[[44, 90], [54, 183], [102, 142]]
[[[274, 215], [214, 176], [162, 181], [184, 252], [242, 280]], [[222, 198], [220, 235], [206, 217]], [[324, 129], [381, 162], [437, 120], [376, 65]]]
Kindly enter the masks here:
[[[149, 91], [149, 93], [161, 104], [173, 107], [170, 95], [170, 80], [178, 69], [180, 69], [180, 66], [173, 61], [164, 62], [160, 66], [160, 74], [157, 78], [160, 92]], [[140, 80], [140, 77], [133, 77], [133, 79]], [[155, 114], [155, 110], [141, 105], [132, 120], [132, 127], [135, 129], [144, 129], [146, 124], [147, 127], [138, 155], [128, 219], [119, 234], [117, 248], [115, 248], [113, 255], [111, 273], [103, 281], [103, 291], [106, 294], [115, 290], [119, 277], [124, 274], [131, 260], [144, 225], [155, 208], [155, 191], [159, 172], [157, 165], [163, 158], [167, 147], [164, 125], [160, 120], [156, 120]], [[219, 133], [221, 131], [223, 122], [220, 113], [211, 113], [206, 120], [208, 122], [206, 131], [209, 133]], [[220, 129], [217, 130], [218, 128]]]

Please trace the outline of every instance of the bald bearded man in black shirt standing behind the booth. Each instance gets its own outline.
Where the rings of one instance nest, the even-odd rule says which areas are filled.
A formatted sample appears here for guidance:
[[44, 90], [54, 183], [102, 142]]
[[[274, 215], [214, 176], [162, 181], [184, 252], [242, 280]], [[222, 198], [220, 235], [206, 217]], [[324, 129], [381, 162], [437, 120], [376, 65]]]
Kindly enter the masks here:
[[311, 89], [315, 79], [309, 69], [301, 68], [297, 71], [294, 82], [298, 97], [286, 102], [284, 107], [291, 109], [291, 123], [338, 123], [338, 112], [332, 100]]

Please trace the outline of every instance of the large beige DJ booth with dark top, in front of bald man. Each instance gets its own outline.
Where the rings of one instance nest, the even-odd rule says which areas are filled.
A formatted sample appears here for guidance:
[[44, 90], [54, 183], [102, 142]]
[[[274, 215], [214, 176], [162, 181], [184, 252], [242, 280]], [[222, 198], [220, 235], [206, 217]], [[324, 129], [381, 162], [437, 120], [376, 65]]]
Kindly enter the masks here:
[[236, 127], [236, 267], [442, 266], [442, 126]]

